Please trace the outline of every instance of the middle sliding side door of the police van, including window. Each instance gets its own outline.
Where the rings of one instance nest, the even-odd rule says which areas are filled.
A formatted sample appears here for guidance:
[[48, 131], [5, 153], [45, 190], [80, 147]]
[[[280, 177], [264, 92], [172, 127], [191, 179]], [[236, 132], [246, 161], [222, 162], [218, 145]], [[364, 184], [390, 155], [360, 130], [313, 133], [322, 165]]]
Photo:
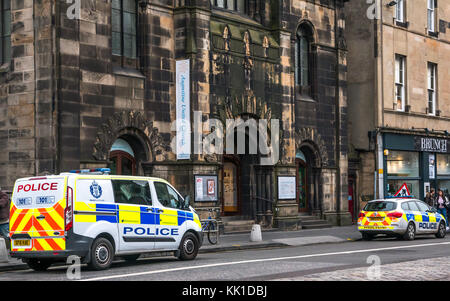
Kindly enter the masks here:
[[158, 214], [152, 207], [149, 182], [146, 180], [111, 180], [119, 207], [119, 252], [152, 250]]

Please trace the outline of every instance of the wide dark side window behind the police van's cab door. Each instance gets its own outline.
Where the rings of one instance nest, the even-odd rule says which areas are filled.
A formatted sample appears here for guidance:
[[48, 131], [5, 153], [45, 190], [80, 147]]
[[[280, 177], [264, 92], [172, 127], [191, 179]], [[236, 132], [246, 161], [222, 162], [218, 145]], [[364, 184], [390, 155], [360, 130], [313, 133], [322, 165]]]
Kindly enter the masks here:
[[148, 181], [111, 180], [116, 203], [152, 205]]

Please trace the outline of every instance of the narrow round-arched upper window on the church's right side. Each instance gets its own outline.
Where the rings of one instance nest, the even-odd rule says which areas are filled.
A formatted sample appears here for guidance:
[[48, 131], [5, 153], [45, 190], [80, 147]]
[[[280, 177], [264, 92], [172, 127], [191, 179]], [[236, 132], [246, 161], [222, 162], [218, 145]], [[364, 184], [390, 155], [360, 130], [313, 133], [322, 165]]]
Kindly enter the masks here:
[[313, 83], [313, 32], [310, 26], [300, 25], [295, 41], [295, 85], [304, 96], [312, 96]]

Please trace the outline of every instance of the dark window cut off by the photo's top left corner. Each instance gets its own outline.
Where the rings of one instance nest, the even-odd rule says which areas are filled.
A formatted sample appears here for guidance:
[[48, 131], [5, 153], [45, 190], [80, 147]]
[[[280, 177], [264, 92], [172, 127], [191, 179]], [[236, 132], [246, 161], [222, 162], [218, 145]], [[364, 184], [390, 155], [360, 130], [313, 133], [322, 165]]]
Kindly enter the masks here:
[[0, 65], [11, 60], [10, 0], [0, 0]]

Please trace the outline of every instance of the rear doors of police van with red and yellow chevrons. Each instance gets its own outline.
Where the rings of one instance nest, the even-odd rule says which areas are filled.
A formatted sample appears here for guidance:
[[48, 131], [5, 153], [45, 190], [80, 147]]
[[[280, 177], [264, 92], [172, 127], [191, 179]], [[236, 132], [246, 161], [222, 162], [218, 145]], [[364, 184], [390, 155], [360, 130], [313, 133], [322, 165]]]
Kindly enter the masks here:
[[10, 210], [12, 251], [65, 250], [67, 177], [16, 181]]

